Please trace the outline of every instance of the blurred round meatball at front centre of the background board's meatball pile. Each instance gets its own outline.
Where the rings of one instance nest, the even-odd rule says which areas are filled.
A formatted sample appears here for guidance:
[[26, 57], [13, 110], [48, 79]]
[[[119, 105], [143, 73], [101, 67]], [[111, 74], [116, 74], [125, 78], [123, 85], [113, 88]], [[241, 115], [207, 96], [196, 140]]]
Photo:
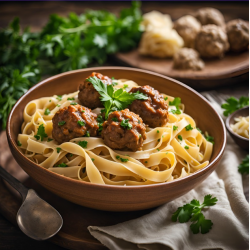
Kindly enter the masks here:
[[202, 26], [195, 38], [195, 49], [201, 57], [221, 58], [228, 48], [229, 43], [226, 33], [221, 27], [214, 24]]

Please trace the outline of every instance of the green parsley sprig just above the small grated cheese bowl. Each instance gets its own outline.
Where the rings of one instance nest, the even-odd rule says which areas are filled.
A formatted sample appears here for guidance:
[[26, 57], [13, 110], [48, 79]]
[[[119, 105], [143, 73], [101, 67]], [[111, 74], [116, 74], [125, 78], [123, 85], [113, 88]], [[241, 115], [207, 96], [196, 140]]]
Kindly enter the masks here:
[[234, 111], [241, 109], [249, 105], [249, 97], [242, 96], [240, 99], [235, 97], [230, 97], [226, 100], [226, 103], [223, 103], [221, 107], [225, 109], [223, 112], [224, 116], [232, 114]]

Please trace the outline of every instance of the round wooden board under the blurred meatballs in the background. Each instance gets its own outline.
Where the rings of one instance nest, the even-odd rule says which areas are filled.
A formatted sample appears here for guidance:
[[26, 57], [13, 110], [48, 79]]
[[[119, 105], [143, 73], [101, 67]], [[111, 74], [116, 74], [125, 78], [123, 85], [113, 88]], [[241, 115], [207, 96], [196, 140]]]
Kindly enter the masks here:
[[158, 59], [139, 55], [138, 50], [117, 53], [116, 59], [125, 65], [151, 70], [178, 79], [195, 89], [214, 89], [248, 79], [249, 51], [227, 53], [223, 59], [204, 60], [201, 71], [176, 70], [172, 59]]

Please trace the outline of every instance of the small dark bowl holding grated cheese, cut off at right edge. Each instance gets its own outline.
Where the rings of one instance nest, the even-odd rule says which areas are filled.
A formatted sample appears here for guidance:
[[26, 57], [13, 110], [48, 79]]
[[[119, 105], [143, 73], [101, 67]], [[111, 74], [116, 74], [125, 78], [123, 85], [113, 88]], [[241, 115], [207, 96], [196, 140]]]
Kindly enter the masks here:
[[236, 134], [232, 129], [231, 129], [231, 124], [234, 124], [234, 118], [237, 118], [239, 116], [249, 116], [249, 106], [244, 107], [242, 109], [236, 110], [235, 112], [233, 112], [227, 119], [226, 119], [226, 127], [227, 127], [227, 131], [229, 132], [229, 134], [231, 135], [231, 137], [233, 138], [233, 140], [235, 141], [235, 143], [243, 148], [243, 149], [249, 149], [249, 139], [245, 138], [243, 136], [240, 136], [238, 134]]

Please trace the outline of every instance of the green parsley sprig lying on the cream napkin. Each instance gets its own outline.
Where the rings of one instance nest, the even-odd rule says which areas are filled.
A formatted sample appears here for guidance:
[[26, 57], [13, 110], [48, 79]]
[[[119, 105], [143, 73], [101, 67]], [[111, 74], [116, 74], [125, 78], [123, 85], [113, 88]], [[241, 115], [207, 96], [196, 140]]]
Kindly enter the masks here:
[[204, 207], [214, 206], [217, 202], [217, 198], [212, 198], [212, 195], [208, 194], [204, 197], [202, 204], [198, 200], [192, 200], [190, 203], [179, 207], [176, 212], [172, 215], [172, 221], [177, 220], [180, 223], [185, 223], [191, 220], [192, 224], [190, 229], [194, 234], [201, 232], [202, 234], [208, 233], [212, 228], [212, 221], [206, 220], [203, 213], [201, 212]]

